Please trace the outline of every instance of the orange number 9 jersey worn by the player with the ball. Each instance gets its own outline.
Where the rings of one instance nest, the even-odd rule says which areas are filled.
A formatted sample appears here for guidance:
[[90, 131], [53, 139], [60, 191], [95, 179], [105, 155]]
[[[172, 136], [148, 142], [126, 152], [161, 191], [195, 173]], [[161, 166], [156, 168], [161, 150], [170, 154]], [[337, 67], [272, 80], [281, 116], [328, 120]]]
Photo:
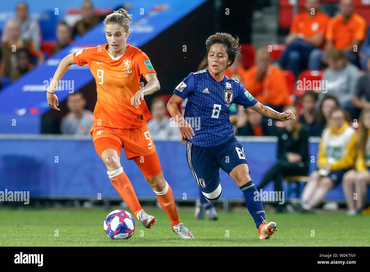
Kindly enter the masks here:
[[136, 108], [135, 104], [131, 105], [131, 97], [140, 90], [141, 75], [156, 72], [148, 56], [139, 48], [128, 44], [125, 53], [114, 58], [107, 47], [108, 44], [103, 44], [73, 54], [75, 63], [87, 64], [95, 78], [97, 102], [92, 127], [142, 127], [150, 117], [147, 104], [141, 100]]

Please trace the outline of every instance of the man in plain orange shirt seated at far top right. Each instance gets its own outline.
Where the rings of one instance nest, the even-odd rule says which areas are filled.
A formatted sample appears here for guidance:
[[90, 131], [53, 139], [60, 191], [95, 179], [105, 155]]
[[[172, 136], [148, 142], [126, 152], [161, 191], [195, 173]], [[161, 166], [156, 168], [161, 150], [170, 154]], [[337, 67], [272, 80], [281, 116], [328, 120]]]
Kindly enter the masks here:
[[[357, 51], [365, 39], [366, 21], [358, 14], [353, 13], [353, 0], [341, 0], [340, 14], [329, 20], [326, 30], [326, 49], [337, 48], [343, 50], [348, 60], [359, 65]], [[314, 65], [311, 70], [319, 70], [323, 56], [322, 50], [315, 50]]]

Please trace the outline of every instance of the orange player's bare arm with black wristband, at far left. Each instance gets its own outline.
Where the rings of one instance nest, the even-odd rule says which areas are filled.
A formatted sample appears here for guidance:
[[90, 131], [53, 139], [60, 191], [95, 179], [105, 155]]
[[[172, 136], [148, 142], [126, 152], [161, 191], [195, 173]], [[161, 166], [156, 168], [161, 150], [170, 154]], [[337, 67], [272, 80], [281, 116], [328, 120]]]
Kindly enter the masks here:
[[55, 88], [59, 84], [59, 80], [62, 79], [65, 72], [67, 72], [68, 68], [72, 65], [76, 64], [73, 59], [73, 54], [69, 54], [68, 56], [65, 56], [63, 60], [60, 62], [57, 70], [55, 71], [55, 74], [53, 76], [53, 79], [51, 80], [51, 83], [49, 87], [47, 88], [46, 98], [47, 102], [49, 103], [50, 107], [54, 110], [60, 111], [58, 107], [58, 97], [56, 94], [54, 94]]

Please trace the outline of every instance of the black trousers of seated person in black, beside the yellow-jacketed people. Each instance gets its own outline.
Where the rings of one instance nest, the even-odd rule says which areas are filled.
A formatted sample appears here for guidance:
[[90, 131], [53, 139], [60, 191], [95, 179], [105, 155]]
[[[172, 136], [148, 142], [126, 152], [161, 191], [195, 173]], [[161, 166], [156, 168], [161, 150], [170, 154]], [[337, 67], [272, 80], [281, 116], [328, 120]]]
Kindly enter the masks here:
[[[291, 164], [287, 161], [278, 161], [275, 165], [273, 165], [273, 167], [269, 169], [269, 171], [267, 171], [267, 173], [263, 176], [261, 183], [256, 188], [259, 192], [260, 189], [265, 187], [270, 181], [273, 181], [275, 183], [275, 191], [283, 192], [284, 177], [307, 174], [308, 168], [304, 165], [301, 166], [299, 163]], [[284, 204], [276, 203], [276, 205], [276, 211], [282, 212], [283, 208], [286, 205], [286, 202], [284, 201]]]

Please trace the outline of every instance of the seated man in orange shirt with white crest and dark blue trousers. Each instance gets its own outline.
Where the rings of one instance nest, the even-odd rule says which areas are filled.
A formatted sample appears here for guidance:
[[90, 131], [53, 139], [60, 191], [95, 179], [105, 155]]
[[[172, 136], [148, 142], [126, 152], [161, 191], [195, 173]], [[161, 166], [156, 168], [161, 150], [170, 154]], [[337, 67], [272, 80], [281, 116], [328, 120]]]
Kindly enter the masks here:
[[297, 14], [286, 37], [286, 49], [279, 65], [293, 71], [296, 78], [311, 65], [311, 52], [323, 46], [329, 16], [320, 12], [319, 0], [306, 0], [306, 11]]

